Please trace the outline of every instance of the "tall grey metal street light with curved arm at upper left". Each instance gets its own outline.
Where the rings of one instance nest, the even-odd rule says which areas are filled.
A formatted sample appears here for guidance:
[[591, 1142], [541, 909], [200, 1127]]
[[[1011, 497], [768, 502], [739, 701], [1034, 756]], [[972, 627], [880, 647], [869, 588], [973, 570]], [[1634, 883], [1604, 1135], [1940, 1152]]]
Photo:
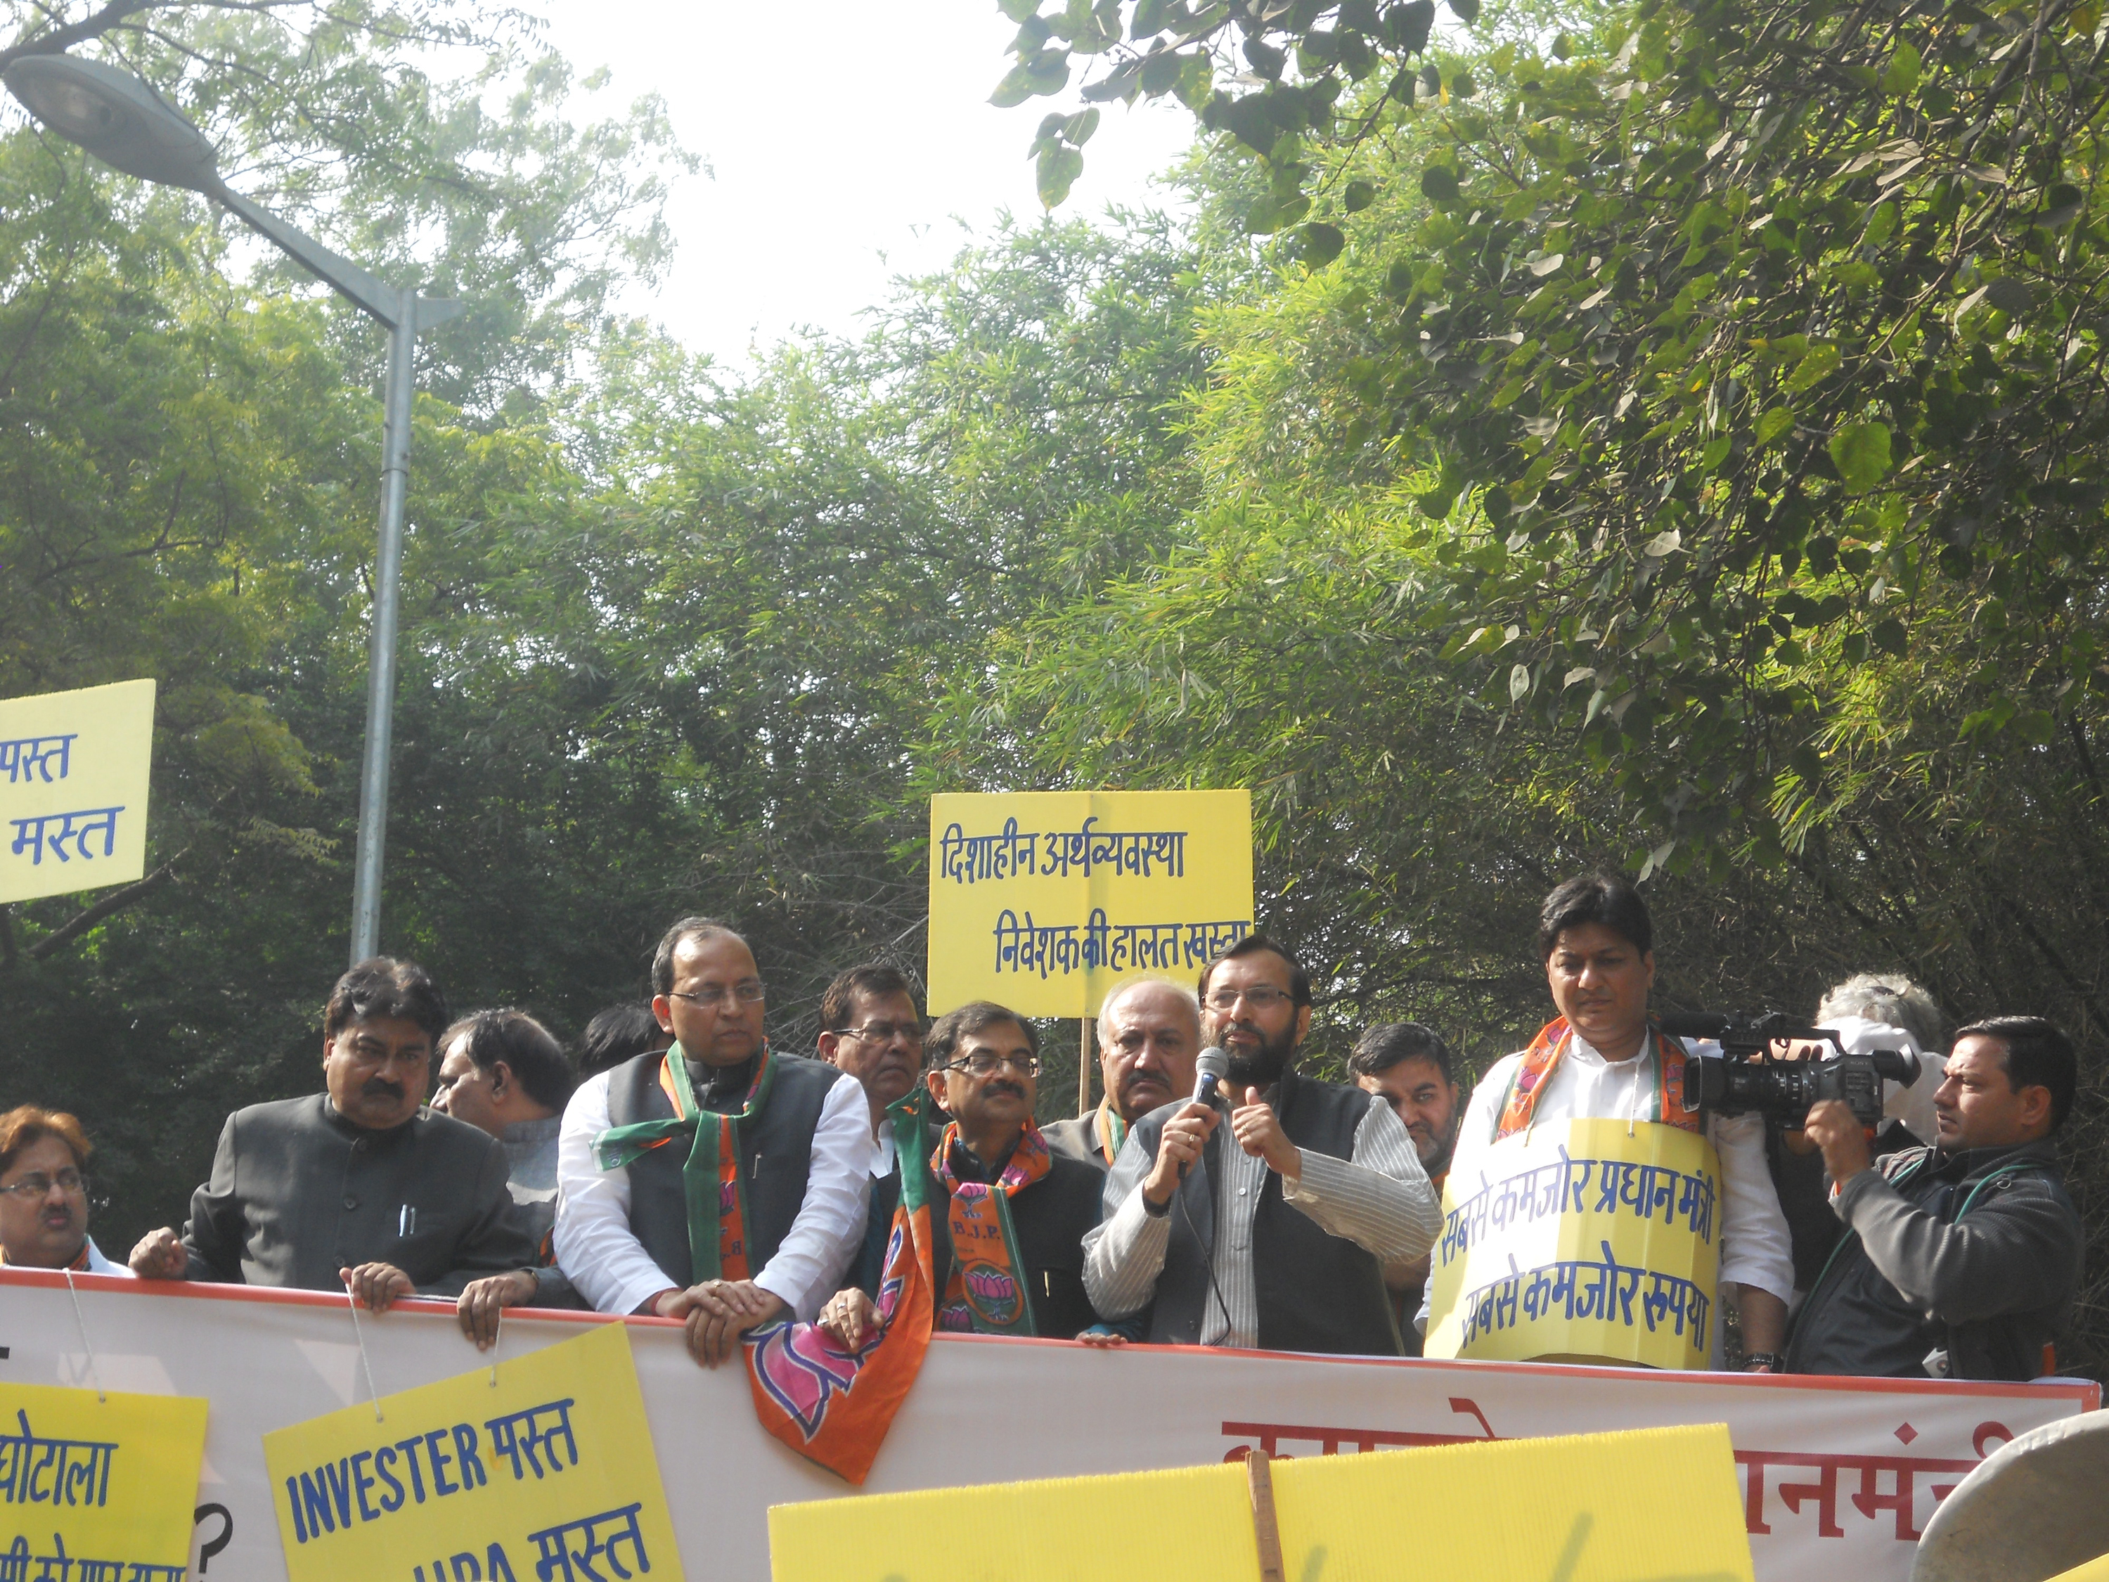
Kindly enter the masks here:
[[403, 576], [403, 496], [409, 487], [411, 356], [418, 331], [466, 312], [466, 304], [392, 287], [314, 236], [259, 209], [219, 179], [219, 156], [183, 112], [143, 78], [72, 55], [25, 55], [6, 67], [6, 86], [61, 137], [141, 181], [202, 192], [276, 243], [388, 327], [388, 394], [382, 422], [382, 542], [367, 660], [367, 755], [359, 774], [359, 850], [352, 880], [352, 960], [380, 947], [382, 846], [388, 837], [388, 736], [394, 724], [394, 637]]

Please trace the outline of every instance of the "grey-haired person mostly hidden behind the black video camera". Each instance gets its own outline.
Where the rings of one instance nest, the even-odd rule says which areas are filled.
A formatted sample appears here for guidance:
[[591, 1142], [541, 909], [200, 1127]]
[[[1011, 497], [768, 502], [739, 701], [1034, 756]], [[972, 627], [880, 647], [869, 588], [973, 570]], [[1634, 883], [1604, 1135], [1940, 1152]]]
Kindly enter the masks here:
[[[1940, 1008], [1907, 977], [1854, 972], [1816, 1006], [1816, 1025], [1839, 1036], [1847, 1055], [1894, 1048], [1919, 1059], [1919, 1080], [1885, 1080], [1883, 1126], [1875, 1135], [1875, 1158], [1934, 1141], [1934, 1091], [1940, 1086]], [[1822, 1059], [1824, 1044], [1774, 1046], [1776, 1059]], [[1822, 1154], [1807, 1133], [1767, 1128], [1765, 1162], [1780, 1192], [1786, 1230], [1795, 1240], [1795, 1301], [1810, 1295], [1816, 1274], [1845, 1228], [1831, 1213], [1831, 1179]]]

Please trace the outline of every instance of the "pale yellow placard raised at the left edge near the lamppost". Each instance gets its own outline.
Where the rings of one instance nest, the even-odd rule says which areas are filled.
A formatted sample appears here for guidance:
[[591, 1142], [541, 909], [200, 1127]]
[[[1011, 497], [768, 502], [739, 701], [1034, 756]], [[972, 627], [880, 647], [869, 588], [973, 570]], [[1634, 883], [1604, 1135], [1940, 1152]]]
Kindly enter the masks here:
[[0, 702], [0, 903], [146, 873], [154, 683]]

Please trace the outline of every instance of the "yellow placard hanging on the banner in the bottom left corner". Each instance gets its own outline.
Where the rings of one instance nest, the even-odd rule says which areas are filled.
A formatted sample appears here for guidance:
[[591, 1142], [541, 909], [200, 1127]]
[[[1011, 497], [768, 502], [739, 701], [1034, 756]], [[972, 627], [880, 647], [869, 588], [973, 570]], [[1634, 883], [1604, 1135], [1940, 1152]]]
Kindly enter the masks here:
[[0, 1384], [0, 1578], [183, 1582], [205, 1409]]

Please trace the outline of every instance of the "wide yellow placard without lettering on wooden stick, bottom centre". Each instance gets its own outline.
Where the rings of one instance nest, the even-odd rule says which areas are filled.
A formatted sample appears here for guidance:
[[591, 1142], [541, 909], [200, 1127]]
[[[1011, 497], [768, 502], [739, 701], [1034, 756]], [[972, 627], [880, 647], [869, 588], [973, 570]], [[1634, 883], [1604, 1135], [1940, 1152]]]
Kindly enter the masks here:
[[[1727, 1428], [1274, 1462], [1282, 1574], [1398, 1582], [1750, 1582]], [[1440, 1512], [1398, 1519], [1386, 1512]], [[1259, 1576], [1242, 1466], [770, 1508], [774, 1582]]]

